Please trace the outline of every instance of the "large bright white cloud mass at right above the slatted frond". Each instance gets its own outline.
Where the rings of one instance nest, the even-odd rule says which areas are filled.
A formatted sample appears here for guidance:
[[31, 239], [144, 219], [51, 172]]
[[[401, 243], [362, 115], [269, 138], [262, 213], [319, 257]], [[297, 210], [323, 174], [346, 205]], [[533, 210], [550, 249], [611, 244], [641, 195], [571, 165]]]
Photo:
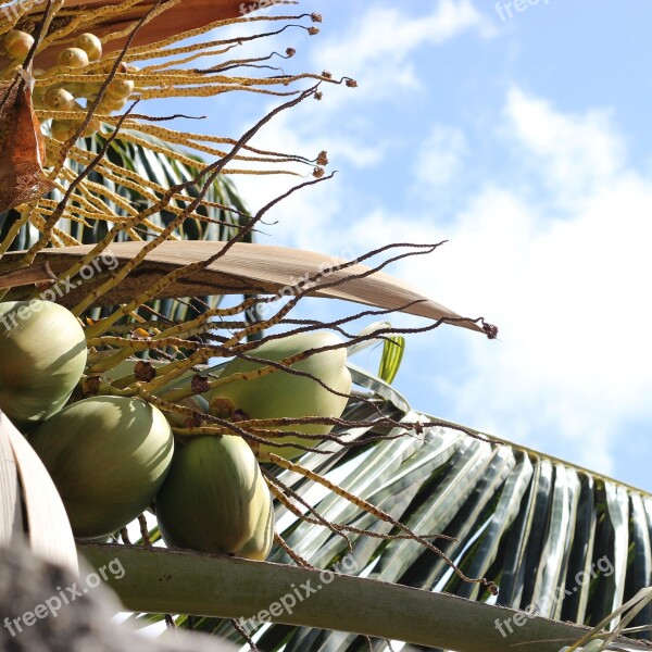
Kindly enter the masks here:
[[[337, 236], [367, 248], [406, 233], [419, 242], [448, 238], [393, 273], [453, 310], [485, 315], [501, 341], [455, 339], [464, 369], [434, 375], [447, 405], [440, 416], [610, 473], [624, 421], [652, 421], [652, 179], [624, 165], [624, 145], [600, 112], [565, 115], [515, 89], [505, 115], [502, 147], [531, 164], [535, 183], [556, 181], [537, 202], [519, 184], [488, 183], [446, 224], [374, 210]], [[441, 160], [457, 159], [459, 138], [436, 140], [450, 146]], [[424, 368], [431, 346], [411, 342]]]

